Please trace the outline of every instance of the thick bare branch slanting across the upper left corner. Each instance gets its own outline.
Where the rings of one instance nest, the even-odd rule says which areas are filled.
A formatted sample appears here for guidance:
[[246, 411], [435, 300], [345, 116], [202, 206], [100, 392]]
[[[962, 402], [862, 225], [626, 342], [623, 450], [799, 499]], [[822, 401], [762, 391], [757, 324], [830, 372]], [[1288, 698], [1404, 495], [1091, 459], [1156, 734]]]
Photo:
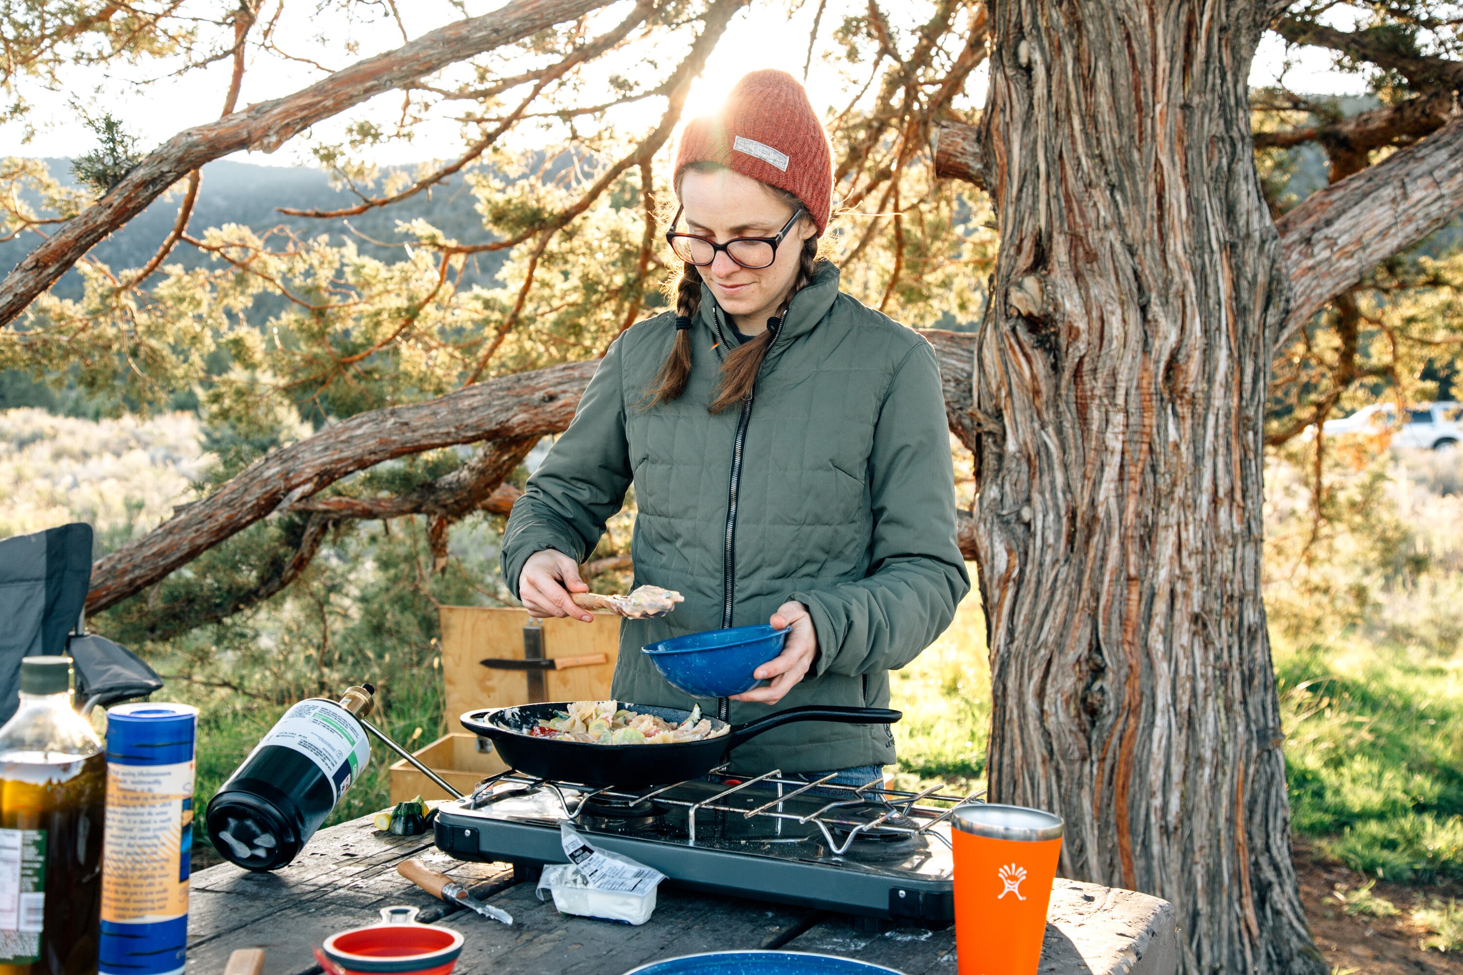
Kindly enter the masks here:
[[97, 241], [140, 213], [164, 190], [205, 162], [240, 149], [274, 152], [312, 124], [351, 105], [432, 75], [454, 61], [522, 41], [607, 3], [609, 0], [512, 0], [492, 13], [449, 23], [394, 51], [357, 61], [293, 95], [259, 102], [218, 121], [180, 132], [154, 149], [105, 196], [63, 224], [6, 275], [0, 282], [0, 326], [12, 322], [38, 294], [56, 284]]

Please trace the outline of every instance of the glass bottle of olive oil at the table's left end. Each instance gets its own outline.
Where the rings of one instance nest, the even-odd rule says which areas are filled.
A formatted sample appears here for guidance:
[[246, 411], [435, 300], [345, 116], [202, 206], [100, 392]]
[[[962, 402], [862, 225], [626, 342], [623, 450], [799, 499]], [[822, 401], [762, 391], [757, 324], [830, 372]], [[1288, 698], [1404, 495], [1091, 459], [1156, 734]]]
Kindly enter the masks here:
[[72, 661], [20, 661], [0, 728], [0, 975], [92, 975], [107, 756], [72, 709]]

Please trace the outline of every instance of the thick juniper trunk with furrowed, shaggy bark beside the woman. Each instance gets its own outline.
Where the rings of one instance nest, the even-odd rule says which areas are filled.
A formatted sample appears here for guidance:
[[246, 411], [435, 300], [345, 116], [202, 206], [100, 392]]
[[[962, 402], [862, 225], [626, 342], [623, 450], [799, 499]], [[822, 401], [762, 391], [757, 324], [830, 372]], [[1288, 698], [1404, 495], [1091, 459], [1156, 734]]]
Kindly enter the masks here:
[[1186, 972], [1324, 972], [1290, 861], [1260, 598], [1286, 311], [1252, 0], [995, 0], [974, 357], [996, 801], [1064, 876], [1175, 903]]

